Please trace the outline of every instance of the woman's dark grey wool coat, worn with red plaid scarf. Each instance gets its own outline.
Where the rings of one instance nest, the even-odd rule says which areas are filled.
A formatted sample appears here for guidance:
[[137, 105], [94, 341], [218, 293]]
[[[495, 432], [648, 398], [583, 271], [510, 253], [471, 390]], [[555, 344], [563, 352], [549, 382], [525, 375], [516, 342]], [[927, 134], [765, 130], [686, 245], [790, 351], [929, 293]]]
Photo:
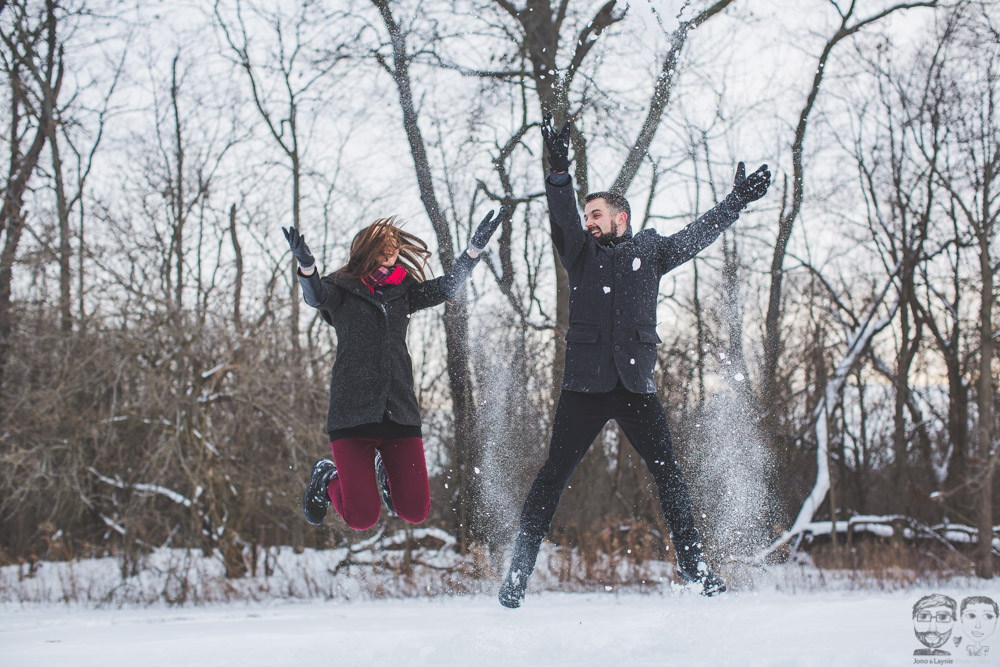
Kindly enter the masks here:
[[306, 303], [337, 330], [328, 433], [381, 422], [383, 415], [397, 424], [420, 425], [406, 349], [410, 315], [453, 297], [478, 262], [463, 252], [440, 278], [420, 283], [407, 276], [399, 285], [386, 285], [381, 301], [355, 278], [299, 274]]

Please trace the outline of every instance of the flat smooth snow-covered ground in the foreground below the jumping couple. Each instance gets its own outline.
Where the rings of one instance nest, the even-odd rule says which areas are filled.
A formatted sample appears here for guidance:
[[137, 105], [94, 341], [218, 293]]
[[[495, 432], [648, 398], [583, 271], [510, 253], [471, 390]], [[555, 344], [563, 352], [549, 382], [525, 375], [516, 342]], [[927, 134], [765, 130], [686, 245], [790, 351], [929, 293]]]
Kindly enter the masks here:
[[[893, 593], [538, 593], [93, 609], [0, 605], [0, 664], [27, 665], [913, 665], [910, 609]], [[956, 626], [957, 628], [958, 626]], [[956, 633], [957, 634], [957, 633]], [[951, 664], [998, 665], [949, 642]], [[921, 663], [919, 660], [926, 660]], [[934, 662], [937, 660], [938, 662]]]

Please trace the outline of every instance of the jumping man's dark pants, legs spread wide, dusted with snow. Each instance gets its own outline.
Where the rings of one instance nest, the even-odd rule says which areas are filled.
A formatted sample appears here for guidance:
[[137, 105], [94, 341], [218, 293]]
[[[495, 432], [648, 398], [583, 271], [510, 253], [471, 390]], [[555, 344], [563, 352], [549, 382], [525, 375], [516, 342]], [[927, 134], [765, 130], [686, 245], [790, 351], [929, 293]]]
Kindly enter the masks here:
[[619, 382], [609, 392], [563, 390], [559, 397], [549, 456], [524, 502], [511, 562], [511, 569], [520, 571], [525, 579], [535, 567], [538, 548], [549, 532], [563, 489], [598, 433], [611, 419], [618, 422], [653, 475], [678, 559], [683, 563], [686, 556], [700, 557], [691, 499], [681, 469], [674, 460], [663, 405], [656, 394], [634, 394]]

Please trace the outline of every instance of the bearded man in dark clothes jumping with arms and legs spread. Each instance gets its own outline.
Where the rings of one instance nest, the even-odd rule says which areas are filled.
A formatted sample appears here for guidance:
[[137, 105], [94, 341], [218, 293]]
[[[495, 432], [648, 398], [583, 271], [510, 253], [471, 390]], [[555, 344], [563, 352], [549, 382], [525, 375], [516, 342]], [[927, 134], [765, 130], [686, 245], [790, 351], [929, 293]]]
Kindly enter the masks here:
[[569, 174], [569, 121], [556, 133], [542, 121], [551, 172], [545, 181], [552, 243], [569, 274], [569, 330], [562, 393], [552, 424], [549, 455], [528, 493], [500, 603], [524, 600], [538, 549], [549, 532], [566, 483], [609, 419], [621, 426], [649, 468], [671, 528], [681, 578], [704, 595], [726, 590], [702, 558], [691, 500], [674, 460], [667, 416], [656, 396], [656, 305], [660, 278], [706, 248], [739, 212], [767, 192], [767, 165], [746, 177], [741, 162], [725, 201], [673, 236], [652, 229], [635, 236], [631, 211], [620, 194], [586, 197], [584, 228]]

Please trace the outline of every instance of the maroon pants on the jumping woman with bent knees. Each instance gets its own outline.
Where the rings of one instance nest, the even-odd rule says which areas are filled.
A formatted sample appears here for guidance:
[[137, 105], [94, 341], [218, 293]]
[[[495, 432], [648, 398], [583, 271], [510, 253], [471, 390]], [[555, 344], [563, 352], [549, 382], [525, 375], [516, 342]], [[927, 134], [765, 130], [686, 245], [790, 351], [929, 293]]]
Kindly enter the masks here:
[[396, 514], [409, 523], [420, 523], [431, 509], [431, 491], [421, 438], [342, 438], [330, 443], [337, 476], [326, 487], [330, 500], [347, 525], [371, 528], [382, 512], [382, 497], [375, 480], [375, 451], [389, 476], [389, 491]]

